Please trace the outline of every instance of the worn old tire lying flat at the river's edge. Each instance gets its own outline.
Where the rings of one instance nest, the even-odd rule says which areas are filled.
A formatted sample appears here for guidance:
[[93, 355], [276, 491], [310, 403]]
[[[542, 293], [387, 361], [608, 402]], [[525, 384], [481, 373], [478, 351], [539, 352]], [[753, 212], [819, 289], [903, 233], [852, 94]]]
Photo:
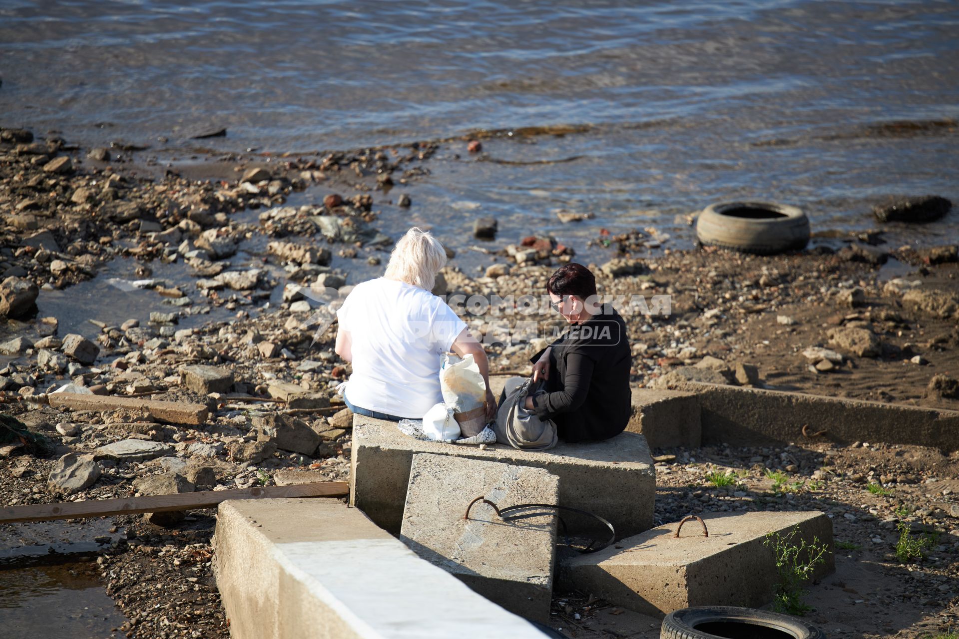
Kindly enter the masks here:
[[809, 242], [809, 218], [787, 204], [711, 204], [696, 219], [696, 238], [704, 246], [758, 255], [798, 251]]

